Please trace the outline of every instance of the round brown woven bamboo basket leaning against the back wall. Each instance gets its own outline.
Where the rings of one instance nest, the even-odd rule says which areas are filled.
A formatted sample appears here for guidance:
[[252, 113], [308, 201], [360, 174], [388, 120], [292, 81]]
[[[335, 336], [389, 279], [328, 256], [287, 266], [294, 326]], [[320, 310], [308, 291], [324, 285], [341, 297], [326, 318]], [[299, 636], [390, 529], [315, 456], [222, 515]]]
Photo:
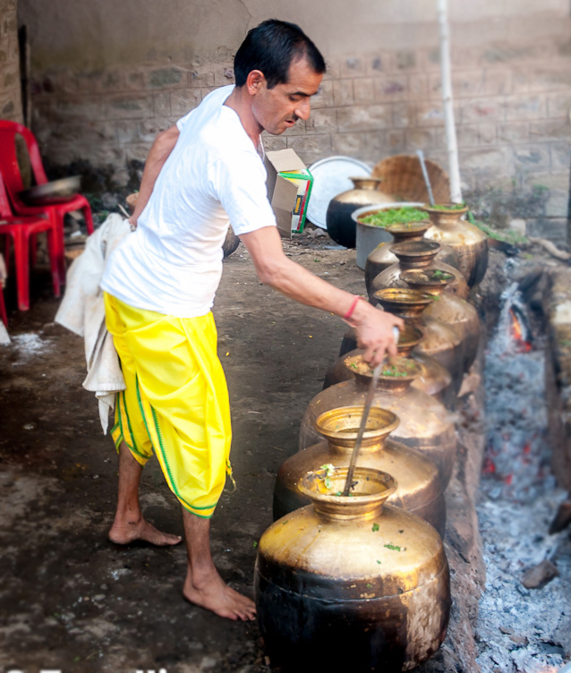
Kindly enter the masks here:
[[[425, 159], [424, 163], [429, 175], [434, 202], [449, 203], [450, 180], [447, 172], [430, 159]], [[382, 178], [382, 191], [394, 194], [399, 200], [429, 202], [429, 194], [422, 177], [422, 167], [418, 157], [400, 154], [383, 159], [372, 169], [371, 177]]]

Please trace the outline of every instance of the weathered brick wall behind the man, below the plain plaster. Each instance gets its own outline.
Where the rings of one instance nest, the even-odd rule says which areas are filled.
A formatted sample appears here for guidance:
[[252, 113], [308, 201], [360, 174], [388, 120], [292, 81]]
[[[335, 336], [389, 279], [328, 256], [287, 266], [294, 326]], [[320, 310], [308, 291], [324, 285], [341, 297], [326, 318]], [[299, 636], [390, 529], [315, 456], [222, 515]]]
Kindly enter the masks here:
[[[459, 46], [462, 25], [452, 25], [456, 125], [464, 192], [500, 225], [524, 217], [530, 233], [547, 228], [561, 240], [571, 164], [571, 21], [542, 21], [541, 38], [512, 25], [503, 31], [510, 39], [498, 39], [496, 24], [493, 42], [471, 38], [466, 47]], [[308, 165], [331, 154], [376, 162], [423, 149], [446, 167], [433, 29], [433, 47], [329, 58], [309, 121], [268, 137], [267, 149], [294, 148]], [[88, 159], [111, 166], [125, 183], [125, 166], [144, 161], [158, 131], [232, 81], [229, 56], [198, 65], [47, 70], [33, 82], [33, 127], [52, 163]]]

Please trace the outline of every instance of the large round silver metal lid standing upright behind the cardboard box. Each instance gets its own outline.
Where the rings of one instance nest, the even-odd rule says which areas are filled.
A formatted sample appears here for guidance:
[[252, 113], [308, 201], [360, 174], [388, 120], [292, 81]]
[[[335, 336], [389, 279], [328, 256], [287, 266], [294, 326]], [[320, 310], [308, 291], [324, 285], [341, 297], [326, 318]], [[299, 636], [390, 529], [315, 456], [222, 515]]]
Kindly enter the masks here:
[[371, 166], [351, 157], [328, 157], [311, 164], [313, 177], [311, 198], [307, 217], [315, 226], [327, 229], [326, 214], [329, 201], [347, 190], [353, 189], [352, 177], [370, 177]]

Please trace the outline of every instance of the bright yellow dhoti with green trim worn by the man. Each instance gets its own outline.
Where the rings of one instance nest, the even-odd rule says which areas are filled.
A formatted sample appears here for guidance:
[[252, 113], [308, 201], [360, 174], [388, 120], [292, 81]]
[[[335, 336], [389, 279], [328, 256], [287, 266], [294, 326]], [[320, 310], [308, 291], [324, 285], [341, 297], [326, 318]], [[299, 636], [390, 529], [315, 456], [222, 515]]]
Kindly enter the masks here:
[[105, 294], [126, 390], [117, 395], [115, 447], [144, 465], [153, 454], [192, 514], [214, 514], [230, 467], [230, 406], [212, 313], [175, 318]]

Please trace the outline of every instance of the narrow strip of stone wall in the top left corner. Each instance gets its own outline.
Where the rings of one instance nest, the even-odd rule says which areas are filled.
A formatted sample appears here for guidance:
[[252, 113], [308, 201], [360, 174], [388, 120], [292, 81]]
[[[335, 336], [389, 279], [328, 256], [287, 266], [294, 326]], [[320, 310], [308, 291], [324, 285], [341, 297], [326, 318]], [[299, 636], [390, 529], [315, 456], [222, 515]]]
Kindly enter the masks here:
[[0, 0], [0, 119], [23, 121], [16, 0]]

